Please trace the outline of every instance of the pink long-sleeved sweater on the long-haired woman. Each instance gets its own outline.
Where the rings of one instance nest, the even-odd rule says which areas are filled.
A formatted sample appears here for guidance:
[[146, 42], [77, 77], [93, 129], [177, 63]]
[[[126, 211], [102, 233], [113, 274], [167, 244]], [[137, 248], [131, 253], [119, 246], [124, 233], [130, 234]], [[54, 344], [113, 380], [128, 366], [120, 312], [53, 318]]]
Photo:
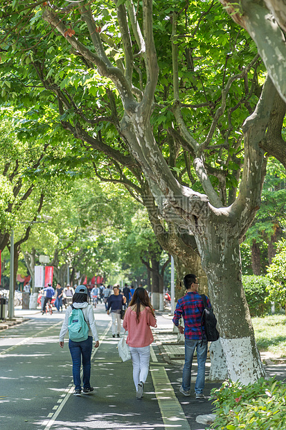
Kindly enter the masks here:
[[152, 315], [150, 307], [145, 307], [140, 312], [139, 322], [136, 321], [136, 312], [132, 311], [130, 307], [127, 308], [123, 320], [123, 327], [128, 331], [127, 345], [134, 348], [150, 345], [154, 341], [150, 325], [157, 327], [156, 322], [156, 318]]

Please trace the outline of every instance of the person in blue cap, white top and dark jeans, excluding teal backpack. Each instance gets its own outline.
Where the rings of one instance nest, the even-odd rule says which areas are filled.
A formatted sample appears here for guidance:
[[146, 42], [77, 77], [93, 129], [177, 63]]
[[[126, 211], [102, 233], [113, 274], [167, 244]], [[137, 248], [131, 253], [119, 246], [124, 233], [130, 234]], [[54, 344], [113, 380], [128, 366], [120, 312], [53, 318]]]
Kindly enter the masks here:
[[[94, 338], [94, 347], [98, 348], [98, 332], [96, 329], [96, 322], [94, 320], [93, 307], [88, 302], [87, 287], [78, 285], [73, 295], [73, 302], [66, 309], [64, 322], [60, 331], [60, 347], [64, 347], [64, 336], [69, 329], [69, 316], [74, 309], [81, 309], [84, 320], [88, 325], [88, 337], [84, 341], [72, 341], [69, 339], [69, 351], [71, 352], [71, 360], [73, 362], [73, 384], [75, 384], [75, 391], [73, 395], [80, 396], [81, 393], [92, 394], [93, 387], [90, 384], [91, 376], [91, 352], [92, 352], [92, 337]], [[83, 387], [80, 379], [80, 367], [82, 363], [83, 370]]]

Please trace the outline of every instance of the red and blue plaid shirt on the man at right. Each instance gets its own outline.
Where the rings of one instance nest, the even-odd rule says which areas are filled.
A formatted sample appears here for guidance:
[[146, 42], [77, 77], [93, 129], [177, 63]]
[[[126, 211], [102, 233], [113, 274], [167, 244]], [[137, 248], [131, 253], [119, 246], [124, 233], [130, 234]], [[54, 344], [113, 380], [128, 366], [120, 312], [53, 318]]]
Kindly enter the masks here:
[[[211, 307], [211, 302], [206, 298], [208, 307]], [[185, 338], [187, 339], [202, 339], [201, 318], [204, 311], [204, 303], [202, 296], [197, 291], [190, 291], [180, 298], [174, 313], [173, 322], [179, 325], [179, 319], [184, 318]], [[204, 334], [204, 330], [203, 330]]]

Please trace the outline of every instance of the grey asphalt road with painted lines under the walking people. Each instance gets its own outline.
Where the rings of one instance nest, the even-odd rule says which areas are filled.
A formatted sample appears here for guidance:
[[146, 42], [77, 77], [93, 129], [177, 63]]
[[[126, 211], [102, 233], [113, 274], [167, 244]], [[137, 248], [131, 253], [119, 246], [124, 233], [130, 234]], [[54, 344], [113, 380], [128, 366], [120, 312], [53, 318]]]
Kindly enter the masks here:
[[[132, 363], [122, 363], [104, 306], [96, 309], [100, 347], [93, 350], [93, 395], [73, 396], [68, 341], [58, 345], [64, 313], [34, 313], [0, 332], [0, 428], [6, 430], [204, 429], [190, 399], [175, 395], [181, 370], [170, 368], [152, 345], [143, 399], [136, 399]], [[163, 319], [163, 318], [162, 318]], [[188, 400], [188, 402], [185, 402]], [[200, 402], [200, 401], [199, 401]], [[187, 408], [188, 406], [188, 408]], [[207, 413], [208, 411], [206, 411]]]

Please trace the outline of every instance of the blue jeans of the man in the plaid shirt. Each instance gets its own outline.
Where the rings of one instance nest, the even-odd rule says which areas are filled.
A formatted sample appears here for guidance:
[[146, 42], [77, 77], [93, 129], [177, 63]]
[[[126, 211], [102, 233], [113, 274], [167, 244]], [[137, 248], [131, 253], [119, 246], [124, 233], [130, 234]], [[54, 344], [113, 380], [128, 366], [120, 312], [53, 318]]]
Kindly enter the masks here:
[[197, 348], [197, 379], [195, 393], [201, 394], [204, 390], [204, 374], [206, 367], [206, 354], [208, 352], [208, 341], [185, 338], [185, 364], [183, 369], [183, 382], [181, 386], [185, 391], [190, 390], [190, 374], [192, 370], [193, 355]]

